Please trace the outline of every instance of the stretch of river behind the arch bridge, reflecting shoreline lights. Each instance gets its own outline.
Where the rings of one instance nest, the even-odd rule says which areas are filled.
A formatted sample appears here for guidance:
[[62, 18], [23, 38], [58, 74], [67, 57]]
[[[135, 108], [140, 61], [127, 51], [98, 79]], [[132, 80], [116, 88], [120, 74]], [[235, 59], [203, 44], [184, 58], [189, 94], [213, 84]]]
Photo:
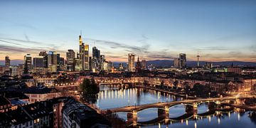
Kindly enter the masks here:
[[101, 86], [96, 105], [102, 110], [128, 105], [145, 105], [156, 102], [181, 100], [181, 97], [142, 88], [118, 89], [118, 86]]

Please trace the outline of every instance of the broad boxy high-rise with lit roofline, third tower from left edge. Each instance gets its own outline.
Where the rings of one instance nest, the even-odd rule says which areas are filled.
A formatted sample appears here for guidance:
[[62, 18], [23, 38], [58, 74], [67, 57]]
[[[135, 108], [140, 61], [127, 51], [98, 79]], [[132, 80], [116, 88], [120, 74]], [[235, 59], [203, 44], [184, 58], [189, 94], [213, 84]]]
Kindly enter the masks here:
[[41, 73], [43, 72], [43, 56], [33, 57], [33, 71]]

